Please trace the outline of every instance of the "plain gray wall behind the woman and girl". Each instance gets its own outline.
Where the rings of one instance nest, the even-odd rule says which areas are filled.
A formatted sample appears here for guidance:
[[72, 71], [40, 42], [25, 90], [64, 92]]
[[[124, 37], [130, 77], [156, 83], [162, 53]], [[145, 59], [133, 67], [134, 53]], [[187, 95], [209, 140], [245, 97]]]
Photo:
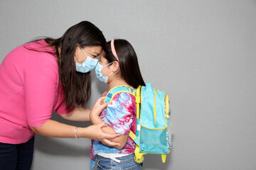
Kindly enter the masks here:
[[[255, 0], [0, 0], [0, 62], [84, 20], [129, 40], [144, 80], [170, 96], [173, 150], [165, 164], [146, 155], [144, 169], [256, 169]], [[106, 89], [93, 76], [87, 107]], [[89, 139], [36, 135], [35, 145], [33, 170], [89, 169]]]

